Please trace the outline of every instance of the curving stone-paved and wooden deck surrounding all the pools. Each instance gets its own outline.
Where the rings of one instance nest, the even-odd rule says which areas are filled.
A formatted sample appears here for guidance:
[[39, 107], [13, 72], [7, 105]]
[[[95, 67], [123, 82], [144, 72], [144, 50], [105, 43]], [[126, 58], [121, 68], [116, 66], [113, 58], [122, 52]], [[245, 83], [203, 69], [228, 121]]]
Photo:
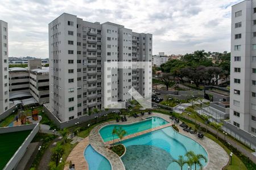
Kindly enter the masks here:
[[[173, 124], [173, 122], [170, 120], [169, 116], [166, 114], [160, 114], [160, 113], [151, 113], [146, 114], [144, 116], [139, 116], [137, 118], [134, 117], [127, 117], [127, 121], [126, 122], [115, 122], [115, 121], [109, 121], [109, 122], [105, 122], [103, 124], [100, 124], [98, 126], [96, 126], [95, 128], [92, 129], [92, 131], [90, 131], [89, 137], [83, 139], [71, 152], [71, 154], [69, 154], [68, 156], [68, 161], [72, 160], [72, 164], [75, 164], [75, 168], [77, 169], [88, 169], [88, 164], [86, 163], [85, 159], [84, 159], [84, 149], [86, 146], [92, 145], [92, 147], [94, 148], [94, 150], [96, 150], [97, 152], [99, 152], [101, 155], [105, 156], [105, 158], [107, 158], [110, 162], [110, 164], [112, 165], [112, 169], [113, 170], [122, 170], [125, 169], [125, 166], [122, 163], [121, 158], [119, 158], [119, 156], [117, 154], [115, 154], [113, 151], [108, 149], [109, 146], [109, 142], [104, 142], [103, 139], [101, 138], [101, 135], [99, 133], [99, 130], [106, 125], [110, 125], [110, 124], [119, 124], [119, 125], [126, 125], [126, 124], [133, 124], [134, 122], [139, 122], [144, 120], [144, 118], [147, 117], [152, 117], [152, 116], [158, 116], [163, 118], [164, 120], [170, 122], [170, 124], [166, 124], [163, 126], [171, 126], [171, 124]], [[160, 126], [159, 126], [160, 127]], [[203, 139], [200, 139], [197, 137], [197, 135], [195, 134], [191, 134], [191, 133], [187, 133], [186, 131], [182, 130], [182, 128], [180, 126], [179, 127], [179, 131], [180, 134], [183, 134], [193, 140], [195, 140], [196, 142], [200, 143], [201, 146], [203, 146], [205, 148], [205, 150], [208, 152], [208, 164], [204, 169], [209, 169], [209, 170], [217, 170], [217, 169], [222, 169], [222, 167], [224, 167], [226, 164], [228, 164], [229, 162], [229, 156], [228, 154], [226, 154], [225, 150], [219, 146], [216, 142], [212, 141], [211, 139], [204, 137]], [[162, 127], [162, 128], [166, 128], [166, 127]], [[154, 130], [158, 130], [161, 128], [154, 128], [151, 129], [150, 131], [154, 131]], [[132, 138], [135, 137], [137, 135], [142, 135], [144, 133], [146, 133], [146, 131], [142, 131], [140, 133], [136, 133], [136, 135], [127, 135], [126, 137]], [[148, 131], [148, 132], [150, 132]], [[118, 139], [116, 139], [118, 140]], [[112, 141], [113, 142], [113, 141]]]

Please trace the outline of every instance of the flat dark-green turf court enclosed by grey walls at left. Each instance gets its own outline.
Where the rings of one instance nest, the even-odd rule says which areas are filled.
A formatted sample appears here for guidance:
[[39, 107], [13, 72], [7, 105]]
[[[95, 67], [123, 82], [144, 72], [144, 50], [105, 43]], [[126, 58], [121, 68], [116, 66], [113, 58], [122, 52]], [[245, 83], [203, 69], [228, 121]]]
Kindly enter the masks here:
[[0, 169], [5, 167], [30, 132], [31, 130], [24, 130], [0, 135]]

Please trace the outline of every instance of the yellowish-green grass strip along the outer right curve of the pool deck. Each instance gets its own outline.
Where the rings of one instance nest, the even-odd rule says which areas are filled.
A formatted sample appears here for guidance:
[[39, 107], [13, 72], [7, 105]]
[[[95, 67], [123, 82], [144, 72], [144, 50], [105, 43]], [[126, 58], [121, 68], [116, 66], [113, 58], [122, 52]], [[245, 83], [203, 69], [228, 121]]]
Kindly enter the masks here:
[[[230, 154], [230, 150], [228, 147], [226, 147], [222, 142], [218, 141], [218, 139], [216, 139], [213, 135], [205, 133], [204, 134], [206, 137], [212, 139], [212, 141], [218, 143], [218, 145], [220, 145], [222, 148], [224, 148], [224, 150], [226, 151], [226, 153], [229, 155]], [[224, 170], [240, 170], [240, 169], [247, 169], [245, 164], [243, 164], [243, 162], [237, 157], [237, 155], [232, 156], [232, 165], [227, 165]]]

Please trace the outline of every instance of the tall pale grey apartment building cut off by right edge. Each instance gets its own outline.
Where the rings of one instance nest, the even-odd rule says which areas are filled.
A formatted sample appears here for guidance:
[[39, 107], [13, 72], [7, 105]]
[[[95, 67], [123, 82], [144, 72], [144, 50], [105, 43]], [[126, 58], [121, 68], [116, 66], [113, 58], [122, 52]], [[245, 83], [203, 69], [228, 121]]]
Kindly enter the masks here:
[[232, 6], [230, 124], [256, 134], [256, 1]]

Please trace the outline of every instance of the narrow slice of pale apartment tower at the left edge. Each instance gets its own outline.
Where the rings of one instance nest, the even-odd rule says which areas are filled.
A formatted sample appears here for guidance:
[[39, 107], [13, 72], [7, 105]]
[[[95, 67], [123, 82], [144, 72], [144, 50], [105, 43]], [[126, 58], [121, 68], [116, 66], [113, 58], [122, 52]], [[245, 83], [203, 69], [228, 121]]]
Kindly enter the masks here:
[[9, 108], [8, 24], [0, 20], [0, 113]]

